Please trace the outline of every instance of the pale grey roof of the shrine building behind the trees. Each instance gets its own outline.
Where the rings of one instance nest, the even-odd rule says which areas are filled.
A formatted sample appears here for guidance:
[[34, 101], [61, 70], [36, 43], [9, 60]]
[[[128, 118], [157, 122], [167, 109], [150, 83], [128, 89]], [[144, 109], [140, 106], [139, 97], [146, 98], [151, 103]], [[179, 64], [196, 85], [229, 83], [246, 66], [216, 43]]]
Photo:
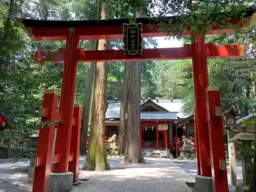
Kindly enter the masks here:
[[[147, 102], [148, 100], [141, 100], [141, 104]], [[152, 99], [152, 102], [155, 104], [161, 106], [166, 110], [166, 112], [141, 112], [141, 119], [142, 118], [166, 118], [169, 115], [169, 118], [184, 118], [185, 115], [182, 113], [182, 106], [183, 106], [183, 101], [181, 99]], [[110, 100], [108, 101], [108, 109], [106, 110], [105, 118], [106, 119], [119, 119], [120, 118], [120, 108], [121, 108], [121, 101], [113, 101]], [[148, 115], [144, 115], [148, 114]], [[174, 117], [176, 115], [176, 117]], [[167, 118], [167, 119], [169, 119]]]

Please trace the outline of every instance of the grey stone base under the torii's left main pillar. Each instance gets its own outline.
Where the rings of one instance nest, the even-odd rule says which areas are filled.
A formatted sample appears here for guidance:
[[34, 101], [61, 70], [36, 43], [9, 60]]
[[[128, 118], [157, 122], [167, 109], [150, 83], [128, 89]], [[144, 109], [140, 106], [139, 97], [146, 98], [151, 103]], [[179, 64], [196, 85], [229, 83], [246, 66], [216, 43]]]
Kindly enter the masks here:
[[73, 173], [51, 173], [48, 192], [70, 192], [73, 189]]

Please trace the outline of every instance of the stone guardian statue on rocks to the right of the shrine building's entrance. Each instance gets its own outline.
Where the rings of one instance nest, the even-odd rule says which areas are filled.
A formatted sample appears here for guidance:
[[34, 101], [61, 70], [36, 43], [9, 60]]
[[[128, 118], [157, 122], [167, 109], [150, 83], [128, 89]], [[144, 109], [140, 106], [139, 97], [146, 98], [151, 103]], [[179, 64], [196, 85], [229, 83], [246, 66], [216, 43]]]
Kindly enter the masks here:
[[193, 160], [196, 158], [195, 144], [186, 136], [182, 136], [183, 146], [179, 149], [180, 156], [178, 160]]

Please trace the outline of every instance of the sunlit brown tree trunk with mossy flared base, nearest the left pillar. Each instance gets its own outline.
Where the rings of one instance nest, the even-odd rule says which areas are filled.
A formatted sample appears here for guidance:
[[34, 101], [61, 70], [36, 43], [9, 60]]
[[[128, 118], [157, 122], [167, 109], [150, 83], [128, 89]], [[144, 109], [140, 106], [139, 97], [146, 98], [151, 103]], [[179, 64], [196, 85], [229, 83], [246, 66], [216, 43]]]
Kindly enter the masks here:
[[[101, 19], [109, 18], [110, 13], [106, 11], [103, 3]], [[109, 50], [110, 40], [100, 39], [98, 50]], [[108, 170], [110, 165], [106, 159], [105, 147], [105, 112], [106, 112], [106, 79], [108, 74], [108, 63], [97, 62], [95, 69], [95, 83], [92, 103], [92, 120], [90, 129], [89, 151], [87, 159], [83, 164], [86, 170]]]

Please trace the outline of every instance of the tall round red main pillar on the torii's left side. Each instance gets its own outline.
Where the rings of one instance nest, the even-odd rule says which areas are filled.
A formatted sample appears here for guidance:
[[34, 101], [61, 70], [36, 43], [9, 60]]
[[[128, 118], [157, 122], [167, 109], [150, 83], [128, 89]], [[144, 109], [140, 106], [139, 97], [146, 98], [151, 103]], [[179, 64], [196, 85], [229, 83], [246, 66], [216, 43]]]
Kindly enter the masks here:
[[59, 113], [62, 115], [64, 122], [58, 124], [54, 151], [54, 154], [60, 155], [60, 162], [53, 165], [54, 173], [66, 173], [69, 163], [77, 73], [76, 51], [79, 42], [74, 28], [70, 28], [69, 33], [59, 104]]

